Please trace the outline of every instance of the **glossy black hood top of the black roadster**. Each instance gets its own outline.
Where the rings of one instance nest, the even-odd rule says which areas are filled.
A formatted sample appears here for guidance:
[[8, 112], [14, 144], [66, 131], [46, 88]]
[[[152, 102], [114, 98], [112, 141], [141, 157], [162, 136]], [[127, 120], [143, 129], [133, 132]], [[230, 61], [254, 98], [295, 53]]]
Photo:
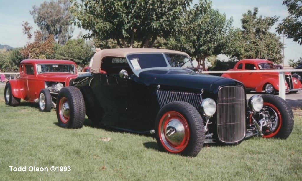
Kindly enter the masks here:
[[175, 88], [186, 91], [216, 92], [221, 86], [237, 86], [242, 83], [220, 76], [211, 76], [191, 70], [148, 70], [140, 73], [140, 81], [161, 88]]

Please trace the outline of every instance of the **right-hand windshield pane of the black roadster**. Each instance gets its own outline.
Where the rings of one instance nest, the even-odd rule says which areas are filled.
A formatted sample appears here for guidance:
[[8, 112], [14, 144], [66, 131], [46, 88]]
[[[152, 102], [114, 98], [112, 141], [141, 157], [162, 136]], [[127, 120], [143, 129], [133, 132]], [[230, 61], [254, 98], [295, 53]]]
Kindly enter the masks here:
[[181, 67], [194, 69], [189, 57], [177, 54], [165, 54], [169, 64], [172, 67]]

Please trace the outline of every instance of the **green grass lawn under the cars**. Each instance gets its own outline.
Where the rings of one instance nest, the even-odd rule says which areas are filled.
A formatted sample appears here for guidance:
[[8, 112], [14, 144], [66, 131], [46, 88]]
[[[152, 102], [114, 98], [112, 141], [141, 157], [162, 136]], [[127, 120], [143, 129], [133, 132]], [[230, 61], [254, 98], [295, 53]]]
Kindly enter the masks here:
[[[158, 151], [151, 136], [96, 128], [88, 119], [82, 129], [63, 129], [54, 110], [42, 113], [25, 101], [10, 107], [3, 87], [0, 95], [0, 180], [302, 180], [300, 109], [294, 110], [294, 130], [286, 140], [253, 137], [234, 146], [206, 145], [188, 158]], [[52, 166], [70, 171], [53, 172]]]

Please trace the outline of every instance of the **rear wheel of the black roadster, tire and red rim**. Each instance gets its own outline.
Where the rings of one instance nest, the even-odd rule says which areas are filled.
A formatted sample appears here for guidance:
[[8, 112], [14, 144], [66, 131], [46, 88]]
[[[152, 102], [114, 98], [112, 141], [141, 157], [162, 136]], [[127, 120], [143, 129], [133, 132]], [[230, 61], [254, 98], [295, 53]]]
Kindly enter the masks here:
[[81, 91], [74, 87], [63, 87], [56, 102], [57, 119], [61, 127], [82, 128], [85, 119], [85, 103]]

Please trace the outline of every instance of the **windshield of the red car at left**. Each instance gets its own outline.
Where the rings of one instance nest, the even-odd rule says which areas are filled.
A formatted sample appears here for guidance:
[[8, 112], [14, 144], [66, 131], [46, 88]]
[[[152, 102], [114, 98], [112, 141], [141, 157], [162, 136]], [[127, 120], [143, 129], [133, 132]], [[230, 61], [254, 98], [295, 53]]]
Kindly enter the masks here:
[[75, 74], [75, 66], [70, 64], [38, 64], [38, 73], [68, 72]]

